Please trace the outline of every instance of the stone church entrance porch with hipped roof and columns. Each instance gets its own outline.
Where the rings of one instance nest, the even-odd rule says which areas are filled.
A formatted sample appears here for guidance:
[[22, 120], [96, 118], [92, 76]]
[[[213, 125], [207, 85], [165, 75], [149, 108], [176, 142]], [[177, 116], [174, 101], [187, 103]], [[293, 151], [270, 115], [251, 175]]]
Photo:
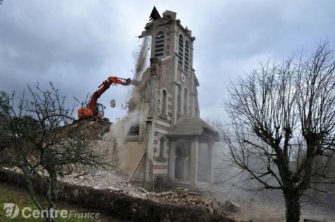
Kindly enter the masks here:
[[218, 141], [218, 133], [198, 117], [181, 118], [170, 138], [169, 177], [175, 184], [182, 182], [188, 188], [199, 186], [199, 149], [200, 143], [207, 145], [207, 160], [204, 177], [207, 182], [213, 182], [213, 143]]

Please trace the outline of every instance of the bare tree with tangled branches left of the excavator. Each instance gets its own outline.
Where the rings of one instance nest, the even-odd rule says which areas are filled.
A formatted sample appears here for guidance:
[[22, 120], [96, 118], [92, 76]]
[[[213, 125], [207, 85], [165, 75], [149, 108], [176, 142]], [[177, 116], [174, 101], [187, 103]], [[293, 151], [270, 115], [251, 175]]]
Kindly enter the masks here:
[[[28, 86], [28, 91], [29, 97], [23, 93], [18, 102], [15, 94], [0, 93], [0, 164], [22, 170], [32, 200], [46, 221], [55, 221], [57, 178], [74, 169], [107, 168], [107, 153], [99, 148], [96, 136], [82, 133], [85, 123], [71, 125], [73, 108], [66, 107], [66, 97], [51, 83], [50, 90], [36, 85]], [[45, 180], [48, 206], [36, 195], [32, 177]]]

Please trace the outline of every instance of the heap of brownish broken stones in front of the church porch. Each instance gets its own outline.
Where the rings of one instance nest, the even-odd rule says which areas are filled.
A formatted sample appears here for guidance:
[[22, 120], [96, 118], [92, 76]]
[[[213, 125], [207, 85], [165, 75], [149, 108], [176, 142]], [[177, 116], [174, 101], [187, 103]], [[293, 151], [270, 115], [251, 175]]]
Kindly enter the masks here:
[[188, 189], [178, 187], [174, 191], [149, 193], [149, 198], [174, 205], [198, 206], [207, 210], [209, 214], [227, 215], [225, 204], [187, 192]]

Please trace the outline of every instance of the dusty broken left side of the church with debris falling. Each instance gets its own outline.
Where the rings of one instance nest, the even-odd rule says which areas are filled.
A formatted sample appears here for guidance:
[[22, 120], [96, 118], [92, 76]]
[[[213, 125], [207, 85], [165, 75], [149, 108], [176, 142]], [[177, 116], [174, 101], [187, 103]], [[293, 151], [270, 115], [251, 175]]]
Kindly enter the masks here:
[[137, 52], [135, 58], [135, 72], [132, 80], [135, 87], [132, 88], [131, 98], [128, 100], [128, 114], [115, 122], [107, 135], [114, 139], [112, 157], [114, 163], [117, 164], [117, 168], [125, 180], [129, 180], [131, 175], [135, 173], [132, 177], [133, 182], [142, 182], [143, 180], [144, 160], [141, 162], [140, 160], [147, 150], [146, 120], [151, 97], [148, 87], [151, 70], [146, 65], [150, 42], [151, 38], [142, 39], [140, 51]]

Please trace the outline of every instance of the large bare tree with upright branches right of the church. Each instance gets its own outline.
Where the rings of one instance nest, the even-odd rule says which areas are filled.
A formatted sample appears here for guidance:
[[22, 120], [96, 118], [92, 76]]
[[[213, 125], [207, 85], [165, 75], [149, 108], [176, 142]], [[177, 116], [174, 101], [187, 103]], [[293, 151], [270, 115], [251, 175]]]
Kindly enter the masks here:
[[327, 192], [313, 184], [335, 181], [334, 56], [325, 41], [313, 54], [260, 63], [231, 83], [224, 102], [230, 123], [221, 132], [234, 165], [258, 189], [283, 191], [287, 221], [299, 221], [308, 189]]

